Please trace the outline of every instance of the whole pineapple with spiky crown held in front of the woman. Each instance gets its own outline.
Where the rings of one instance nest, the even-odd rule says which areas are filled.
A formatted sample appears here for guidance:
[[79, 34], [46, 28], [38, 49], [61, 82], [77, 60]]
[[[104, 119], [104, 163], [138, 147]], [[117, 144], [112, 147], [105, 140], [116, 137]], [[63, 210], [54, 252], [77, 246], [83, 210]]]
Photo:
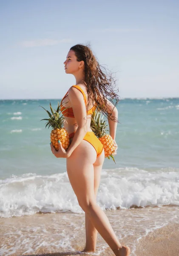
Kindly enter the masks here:
[[[40, 107], [42, 107], [42, 106], [40, 106]], [[43, 109], [45, 109], [45, 108], [43, 108]], [[57, 106], [57, 111], [55, 109], [53, 110], [53, 108], [51, 107], [51, 103], [50, 103], [50, 109], [51, 109], [52, 114], [48, 110], [45, 109], [45, 111], [48, 113], [48, 116], [50, 118], [42, 119], [42, 120], [48, 121], [48, 122], [46, 122], [45, 128], [47, 126], [48, 126], [48, 128], [50, 126], [53, 128], [51, 131], [51, 134], [50, 134], [51, 143], [54, 146], [54, 148], [58, 151], [59, 150], [58, 140], [60, 140], [62, 147], [65, 150], [67, 150], [67, 148], [70, 145], [70, 139], [69, 139], [68, 132], [65, 130], [65, 128], [63, 128], [64, 117], [63, 117], [63, 115], [60, 116], [60, 114], [59, 114], [59, 110], [60, 110], [59, 102], [58, 102], [58, 106]]]

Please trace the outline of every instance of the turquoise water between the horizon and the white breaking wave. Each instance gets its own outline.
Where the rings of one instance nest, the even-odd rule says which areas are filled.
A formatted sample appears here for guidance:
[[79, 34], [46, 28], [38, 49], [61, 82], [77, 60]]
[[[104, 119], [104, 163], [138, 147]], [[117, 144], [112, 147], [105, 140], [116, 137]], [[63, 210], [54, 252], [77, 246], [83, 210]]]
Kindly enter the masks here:
[[[51, 101], [0, 101], [0, 177], [28, 172], [65, 171], [65, 159], [50, 151], [50, 129], [45, 129]], [[179, 99], [124, 99], [118, 104], [116, 165], [106, 159], [104, 168], [179, 167]]]

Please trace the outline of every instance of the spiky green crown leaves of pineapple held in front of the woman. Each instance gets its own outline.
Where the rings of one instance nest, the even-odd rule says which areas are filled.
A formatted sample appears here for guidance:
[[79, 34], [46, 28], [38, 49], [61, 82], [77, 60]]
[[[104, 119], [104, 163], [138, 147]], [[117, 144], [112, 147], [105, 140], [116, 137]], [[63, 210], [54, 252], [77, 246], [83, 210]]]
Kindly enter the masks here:
[[[43, 108], [42, 106], [39, 106], [41, 108]], [[69, 107], [68, 107], [69, 108]], [[59, 128], [61, 129], [63, 127], [63, 121], [64, 121], [64, 117], [63, 115], [60, 116], [60, 104], [58, 102], [58, 105], [57, 105], [57, 110], [53, 110], [52, 106], [51, 106], [51, 102], [50, 102], [50, 110], [51, 110], [51, 113], [46, 110], [45, 108], [43, 108], [47, 113], [48, 113], [48, 116], [49, 116], [49, 119], [41, 119], [40, 121], [42, 120], [45, 120], [45, 121], [48, 121], [46, 122], [45, 124], [45, 128], [48, 126], [48, 128], [51, 126], [52, 128]], [[66, 110], [67, 108], [65, 108]], [[64, 111], [64, 110], [63, 110]]]

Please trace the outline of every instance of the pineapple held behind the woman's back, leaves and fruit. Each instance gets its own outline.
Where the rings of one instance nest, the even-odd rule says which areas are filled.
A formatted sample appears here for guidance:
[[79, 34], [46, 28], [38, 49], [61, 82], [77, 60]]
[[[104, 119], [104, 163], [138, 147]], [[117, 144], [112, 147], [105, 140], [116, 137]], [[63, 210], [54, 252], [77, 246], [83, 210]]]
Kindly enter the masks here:
[[[103, 116], [99, 111], [94, 111], [91, 117], [91, 129], [93, 130], [94, 134], [98, 137], [100, 142], [102, 143], [105, 151], [105, 157], [113, 157], [113, 153], [115, 152], [114, 141], [111, 135], [106, 134], [108, 125], [106, 121], [103, 120]], [[114, 161], [115, 162], [115, 161]], [[115, 162], [116, 163], [116, 162]]]

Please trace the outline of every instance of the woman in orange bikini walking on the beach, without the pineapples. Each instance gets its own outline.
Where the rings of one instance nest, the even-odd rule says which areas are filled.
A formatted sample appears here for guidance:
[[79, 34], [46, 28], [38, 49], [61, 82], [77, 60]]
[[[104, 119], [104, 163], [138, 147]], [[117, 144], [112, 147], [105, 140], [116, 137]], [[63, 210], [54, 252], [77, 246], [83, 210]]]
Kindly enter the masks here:
[[65, 151], [59, 141], [60, 148], [56, 151], [51, 143], [51, 151], [56, 157], [66, 158], [71, 186], [85, 212], [86, 244], [83, 252], [95, 251], [99, 232], [116, 256], [129, 256], [129, 247], [119, 243], [107, 216], [96, 202], [105, 154], [101, 142], [90, 128], [91, 114], [97, 108], [107, 115], [110, 135], [115, 143], [118, 112], [107, 99], [108, 96], [118, 101], [112, 87], [114, 80], [102, 72], [91, 49], [81, 44], [71, 47], [64, 65], [65, 73], [74, 75], [76, 79], [76, 85], [70, 87], [61, 102], [71, 144]]

